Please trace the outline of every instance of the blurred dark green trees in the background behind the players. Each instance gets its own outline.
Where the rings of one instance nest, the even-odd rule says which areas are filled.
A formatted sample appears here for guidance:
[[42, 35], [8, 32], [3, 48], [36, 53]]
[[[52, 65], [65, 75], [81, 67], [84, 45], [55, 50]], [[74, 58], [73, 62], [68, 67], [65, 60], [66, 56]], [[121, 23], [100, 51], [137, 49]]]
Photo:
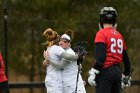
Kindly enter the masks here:
[[[139, 0], [7, 0], [8, 9], [8, 68], [9, 82], [42, 82], [45, 68], [42, 66], [42, 33], [46, 28], [60, 35], [65, 30], [75, 32], [74, 45], [80, 40], [88, 41], [86, 62], [83, 63], [83, 79], [94, 64], [94, 37], [98, 31], [99, 11], [112, 6], [118, 11], [118, 30], [124, 36], [127, 50], [135, 68], [133, 79], [140, 79], [140, 1]], [[0, 1], [0, 47], [4, 54], [3, 1]], [[94, 88], [86, 85], [87, 93]], [[89, 91], [90, 90], [90, 91]], [[11, 90], [16, 93], [18, 90]], [[29, 93], [22, 90], [23, 93]], [[22, 92], [21, 91], [21, 92]], [[25, 92], [26, 91], [26, 92]], [[45, 93], [43, 90], [41, 93]], [[139, 86], [125, 90], [140, 93]], [[34, 90], [32, 91], [36, 93]]]

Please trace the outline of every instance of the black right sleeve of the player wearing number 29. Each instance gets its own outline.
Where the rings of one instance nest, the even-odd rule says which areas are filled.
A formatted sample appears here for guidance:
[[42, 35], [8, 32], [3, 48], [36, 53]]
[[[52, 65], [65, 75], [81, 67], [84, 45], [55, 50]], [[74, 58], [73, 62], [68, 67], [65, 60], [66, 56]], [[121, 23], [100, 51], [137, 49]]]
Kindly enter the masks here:
[[124, 63], [123, 74], [128, 76], [130, 74], [131, 64], [126, 50], [123, 51], [123, 63]]

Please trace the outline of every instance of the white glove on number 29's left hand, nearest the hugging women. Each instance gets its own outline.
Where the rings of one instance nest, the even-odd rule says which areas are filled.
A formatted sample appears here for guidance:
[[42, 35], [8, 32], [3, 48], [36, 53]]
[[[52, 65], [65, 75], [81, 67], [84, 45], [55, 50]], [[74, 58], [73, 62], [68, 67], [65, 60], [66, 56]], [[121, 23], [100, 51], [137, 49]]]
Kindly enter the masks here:
[[91, 70], [89, 70], [89, 77], [88, 77], [88, 83], [91, 85], [91, 86], [96, 86], [96, 81], [95, 81], [95, 78], [96, 78], [96, 75], [99, 74], [99, 71], [94, 69], [94, 68], [91, 68]]

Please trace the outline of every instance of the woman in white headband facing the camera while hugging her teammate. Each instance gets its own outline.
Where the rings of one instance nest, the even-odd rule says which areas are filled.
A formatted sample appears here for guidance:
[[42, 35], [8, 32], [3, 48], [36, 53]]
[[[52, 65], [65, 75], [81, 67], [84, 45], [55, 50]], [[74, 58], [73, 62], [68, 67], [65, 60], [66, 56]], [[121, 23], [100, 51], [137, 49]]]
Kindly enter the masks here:
[[[72, 32], [66, 31], [60, 37], [59, 46], [65, 49], [69, 54], [75, 54], [75, 52], [70, 48], [72, 40]], [[79, 78], [77, 82], [78, 65], [77, 61], [69, 61], [62, 59], [60, 62], [55, 62], [54, 60], [49, 60], [50, 64], [57, 69], [61, 69], [62, 72], [62, 82], [63, 82], [63, 93], [86, 93], [84, 82], [82, 80], [81, 74], [79, 73]], [[78, 84], [76, 84], [78, 83]], [[77, 86], [77, 90], [76, 90]]]

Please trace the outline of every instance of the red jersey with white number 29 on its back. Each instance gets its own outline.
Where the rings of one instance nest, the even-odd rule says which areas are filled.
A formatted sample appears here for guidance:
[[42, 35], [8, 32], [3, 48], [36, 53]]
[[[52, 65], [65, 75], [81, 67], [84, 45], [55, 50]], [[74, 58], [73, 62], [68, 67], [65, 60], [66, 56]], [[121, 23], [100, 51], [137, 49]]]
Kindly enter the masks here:
[[104, 43], [106, 45], [103, 68], [118, 64], [122, 61], [123, 50], [126, 45], [121, 34], [114, 28], [104, 28], [97, 32], [95, 37], [96, 43]]

